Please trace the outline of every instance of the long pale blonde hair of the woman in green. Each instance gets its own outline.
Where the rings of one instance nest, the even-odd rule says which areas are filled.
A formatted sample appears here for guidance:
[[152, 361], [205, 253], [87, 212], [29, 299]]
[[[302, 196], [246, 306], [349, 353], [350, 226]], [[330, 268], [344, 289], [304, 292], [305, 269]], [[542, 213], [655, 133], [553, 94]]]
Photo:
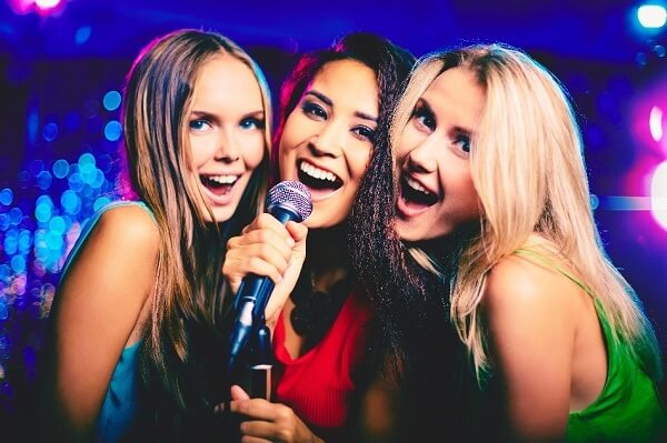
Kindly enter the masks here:
[[[545, 239], [599, 301], [614, 340], [630, 343], [645, 370], [661, 375], [657, 341], [635, 292], [611, 264], [595, 225], [583, 145], [564, 88], [524, 52], [502, 44], [471, 46], [425, 57], [415, 69], [392, 122], [392, 145], [417, 100], [445, 70], [470, 70], [486, 103], [470, 150], [470, 172], [479, 194], [477, 232], [458, 258], [450, 314], [478, 375], [489, 369], [479, 304], [485, 279], [499, 260], [531, 236]], [[438, 272], [421, 250], [420, 263]]]

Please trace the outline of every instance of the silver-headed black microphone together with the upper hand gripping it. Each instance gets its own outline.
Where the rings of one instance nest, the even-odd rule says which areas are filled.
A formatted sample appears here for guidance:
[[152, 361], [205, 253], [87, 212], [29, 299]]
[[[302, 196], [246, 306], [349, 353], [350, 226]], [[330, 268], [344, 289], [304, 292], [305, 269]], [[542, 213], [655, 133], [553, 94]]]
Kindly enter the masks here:
[[222, 272], [237, 290], [230, 365], [258, 323], [263, 325], [265, 311], [273, 316], [291, 293], [306, 258], [307, 229], [296, 222], [311, 210], [310, 193], [302, 183], [280, 182], [269, 191], [268, 213], [229, 240]]

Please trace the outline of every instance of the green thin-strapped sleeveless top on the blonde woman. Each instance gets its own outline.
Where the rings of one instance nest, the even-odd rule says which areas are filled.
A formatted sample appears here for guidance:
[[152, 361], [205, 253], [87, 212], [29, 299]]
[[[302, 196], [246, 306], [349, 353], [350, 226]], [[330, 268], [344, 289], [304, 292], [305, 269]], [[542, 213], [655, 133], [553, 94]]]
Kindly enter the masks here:
[[630, 344], [614, 340], [605, 311], [590, 289], [535, 251], [520, 249], [515, 254], [537, 259], [558, 271], [595, 301], [607, 345], [607, 380], [590, 405], [583, 411], [570, 412], [568, 442], [667, 442], [667, 412], [658, 389], [629, 352]]

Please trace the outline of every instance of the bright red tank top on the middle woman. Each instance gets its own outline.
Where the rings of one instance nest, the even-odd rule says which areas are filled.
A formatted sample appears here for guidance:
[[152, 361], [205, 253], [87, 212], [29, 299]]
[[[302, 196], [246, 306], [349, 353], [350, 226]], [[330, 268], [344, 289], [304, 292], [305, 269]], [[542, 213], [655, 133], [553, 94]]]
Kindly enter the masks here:
[[282, 315], [278, 319], [273, 401], [290, 406], [316, 434], [316, 430], [340, 430], [347, 424], [357, 370], [367, 349], [369, 320], [367, 303], [352, 290], [329, 332], [292, 360], [285, 348]]

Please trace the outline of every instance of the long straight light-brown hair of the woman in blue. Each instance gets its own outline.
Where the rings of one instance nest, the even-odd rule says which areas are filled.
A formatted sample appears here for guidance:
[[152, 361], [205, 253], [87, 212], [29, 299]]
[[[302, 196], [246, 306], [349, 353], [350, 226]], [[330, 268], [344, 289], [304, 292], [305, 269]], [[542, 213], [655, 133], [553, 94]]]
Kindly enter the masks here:
[[[260, 87], [266, 121], [265, 157], [222, 230], [207, 223], [199, 204], [201, 189], [192, 174], [188, 115], [199, 69], [211, 58], [230, 54], [247, 64]], [[139, 54], [123, 94], [127, 181], [152, 210], [160, 231], [151, 316], [145, 329], [141, 370], [147, 384], [185, 411], [199, 401], [185, 380], [192, 368], [188, 323], [215, 330], [228, 303], [220, 266], [226, 238], [239, 232], [262, 210], [267, 192], [271, 104], [255, 61], [236, 43], [213, 32], [180, 30], [161, 37]], [[209, 209], [210, 213], [210, 209]], [[212, 214], [210, 214], [212, 218]]]

